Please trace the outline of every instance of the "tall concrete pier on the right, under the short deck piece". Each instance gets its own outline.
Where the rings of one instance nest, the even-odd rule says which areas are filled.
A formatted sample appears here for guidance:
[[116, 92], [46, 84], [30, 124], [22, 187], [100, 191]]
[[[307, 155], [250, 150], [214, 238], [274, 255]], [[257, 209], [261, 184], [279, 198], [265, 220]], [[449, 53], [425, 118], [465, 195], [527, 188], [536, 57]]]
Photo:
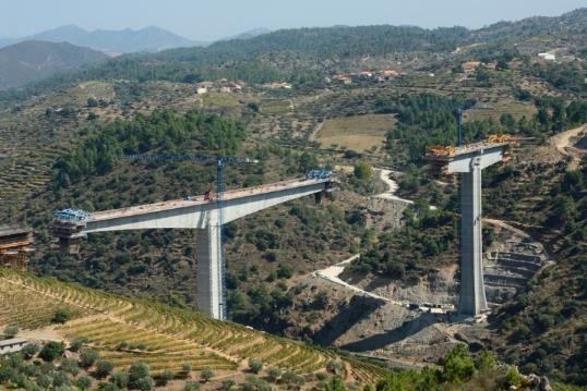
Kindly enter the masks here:
[[488, 309], [483, 285], [481, 231], [481, 157], [472, 158], [460, 183], [460, 300], [458, 311], [479, 315]]

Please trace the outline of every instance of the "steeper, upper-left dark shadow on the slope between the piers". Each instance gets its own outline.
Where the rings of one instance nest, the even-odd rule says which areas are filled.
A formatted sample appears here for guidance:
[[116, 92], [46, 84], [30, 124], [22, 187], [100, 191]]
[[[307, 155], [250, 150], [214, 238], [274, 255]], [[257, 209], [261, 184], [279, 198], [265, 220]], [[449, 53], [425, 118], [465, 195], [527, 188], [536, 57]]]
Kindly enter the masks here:
[[350, 302], [338, 310], [338, 314], [324, 325], [313, 340], [323, 346], [331, 346], [338, 337], [348, 331], [355, 323], [369, 318], [385, 302], [367, 296], [352, 296]]

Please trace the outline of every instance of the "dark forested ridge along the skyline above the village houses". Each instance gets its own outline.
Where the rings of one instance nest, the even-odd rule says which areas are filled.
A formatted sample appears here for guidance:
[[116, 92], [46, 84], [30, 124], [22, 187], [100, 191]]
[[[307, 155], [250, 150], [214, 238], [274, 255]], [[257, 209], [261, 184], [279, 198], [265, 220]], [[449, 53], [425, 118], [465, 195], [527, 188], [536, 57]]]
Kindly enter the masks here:
[[[402, 52], [452, 53], [472, 44], [552, 41], [554, 37], [576, 52], [585, 52], [587, 9], [556, 17], [501, 22], [478, 30], [465, 27], [426, 29], [414, 26], [334, 26], [281, 29], [251, 39], [232, 39], [208, 47], [170, 49], [152, 54], [127, 54], [91, 70], [70, 72], [0, 95], [0, 102], [37, 95], [86, 80], [171, 80], [197, 82], [238, 78], [248, 83], [323, 77], [323, 71], [345, 61]], [[548, 38], [548, 39], [529, 39]], [[534, 45], [534, 44], [532, 44]], [[534, 46], [532, 46], [534, 48]], [[544, 50], [537, 46], [536, 50]], [[535, 50], [535, 51], [536, 51]], [[333, 68], [334, 66], [334, 68]], [[344, 66], [343, 66], [344, 68]]]

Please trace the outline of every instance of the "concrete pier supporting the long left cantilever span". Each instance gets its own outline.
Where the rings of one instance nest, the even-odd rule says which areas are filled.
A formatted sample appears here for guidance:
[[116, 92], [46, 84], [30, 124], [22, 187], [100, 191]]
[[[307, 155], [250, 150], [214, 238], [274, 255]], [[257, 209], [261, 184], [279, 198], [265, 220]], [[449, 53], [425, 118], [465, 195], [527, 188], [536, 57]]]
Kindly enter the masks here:
[[197, 308], [214, 319], [224, 320], [223, 267], [218, 251], [219, 227], [196, 230]]

